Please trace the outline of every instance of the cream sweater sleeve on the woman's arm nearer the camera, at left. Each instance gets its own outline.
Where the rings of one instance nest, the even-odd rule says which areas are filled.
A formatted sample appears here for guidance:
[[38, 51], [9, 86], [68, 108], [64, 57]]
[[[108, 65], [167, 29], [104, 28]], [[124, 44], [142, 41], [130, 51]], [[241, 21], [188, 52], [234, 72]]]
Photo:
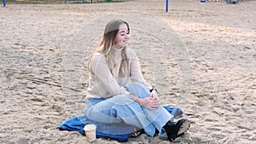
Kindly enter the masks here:
[[120, 86], [117, 83], [117, 81], [113, 78], [113, 75], [109, 70], [105, 56], [96, 53], [91, 58], [90, 62], [90, 70], [94, 73], [96, 81], [100, 83], [99, 85], [102, 85], [104, 89], [107, 89], [111, 95], [130, 94], [128, 91], [126, 91], [124, 87]]

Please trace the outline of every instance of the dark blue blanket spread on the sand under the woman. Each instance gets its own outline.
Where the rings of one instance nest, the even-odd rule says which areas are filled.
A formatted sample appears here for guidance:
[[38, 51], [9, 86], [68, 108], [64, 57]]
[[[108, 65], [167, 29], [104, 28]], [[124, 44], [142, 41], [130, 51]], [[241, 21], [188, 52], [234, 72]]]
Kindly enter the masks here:
[[[177, 107], [165, 107], [174, 117], [183, 114], [183, 111]], [[117, 141], [128, 141], [133, 130], [136, 128], [127, 124], [98, 124], [90, 121], [85, 115], [76, 118], [68, 119], [64, 124], [58, 128], [59, 130], [79, 131], [80, 134], [85, 135], [84, 125], [96, 124], [96, 137], [109, 138]]]

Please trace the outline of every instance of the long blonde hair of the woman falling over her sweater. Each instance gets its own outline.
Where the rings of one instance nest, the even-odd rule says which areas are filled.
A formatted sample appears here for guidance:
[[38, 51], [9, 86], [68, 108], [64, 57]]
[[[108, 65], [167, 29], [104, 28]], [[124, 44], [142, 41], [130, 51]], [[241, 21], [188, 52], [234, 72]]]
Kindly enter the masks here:
[[[128, 27], [128, 31], [130, 32], [129, 25], [124, 20], [111, 20], [108, 22], [108, 24], [105, 26], [104, 34], [102, 37], [102, 42], [100, 43], [99, 48], [96, 49], [96, 52], [95, 52], [95, 53], [100, 53], [106, 57], [108, 66], [109, 66], [109, 70], [112, 74], [113, 74], [113, 69], [115, 67], [113, 43], [114, 43], [114, 38], [115, 38], [117, 32], [119, 32], [119, 26], [122, 24], [125, 24]], [[92, 55], [90, 56], [90, 60], [91, 60], [91, 58], [92, 58]], [[127, 73], [128, 72], [128, 70], [127, 70], [128, 60], [127, 60], [127, 55], [126, 55], [126, 47], [122, 49], [121, 58], [122, 58], [122, 60], [121, 60], [120, 68], [119, 68], [119, 76], [125, 77], [128, 74]], [[90, 60], [88, 62], [89, 72], [91, 72]]]

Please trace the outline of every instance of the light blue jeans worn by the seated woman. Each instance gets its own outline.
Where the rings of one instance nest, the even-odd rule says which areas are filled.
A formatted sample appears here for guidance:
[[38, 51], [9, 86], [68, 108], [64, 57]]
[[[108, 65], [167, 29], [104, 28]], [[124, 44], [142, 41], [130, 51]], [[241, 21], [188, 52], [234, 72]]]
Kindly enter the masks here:
[[[127, 90], [139, 98], [150, 95], [149, 90], [143, 84], [130, 84]], [[155, 110], [149, 110], [132, 101], [128, 95], [88, 100], [86, 117], [96, 123], [133, 125], [144, 129], [151, 137], [154, 136], [155, 129], [160, 131], [160, 135], [166, 135], [166, 131], [162, 127], [173, 119], [172, 114], [167, 112], [164, 107], [159, 106]]]

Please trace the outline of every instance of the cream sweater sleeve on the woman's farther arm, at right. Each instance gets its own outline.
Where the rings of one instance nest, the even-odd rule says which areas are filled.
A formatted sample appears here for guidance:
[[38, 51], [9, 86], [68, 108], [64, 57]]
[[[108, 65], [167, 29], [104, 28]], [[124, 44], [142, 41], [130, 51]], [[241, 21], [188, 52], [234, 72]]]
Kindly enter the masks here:
[[135, 52], [130, 51], [130, 78], [131, 82], [137, 82], [145, 85], [148, 89], [152, 89], [152, 86], [146, 82], [143, 78], [143, 73], [137, 55]]

